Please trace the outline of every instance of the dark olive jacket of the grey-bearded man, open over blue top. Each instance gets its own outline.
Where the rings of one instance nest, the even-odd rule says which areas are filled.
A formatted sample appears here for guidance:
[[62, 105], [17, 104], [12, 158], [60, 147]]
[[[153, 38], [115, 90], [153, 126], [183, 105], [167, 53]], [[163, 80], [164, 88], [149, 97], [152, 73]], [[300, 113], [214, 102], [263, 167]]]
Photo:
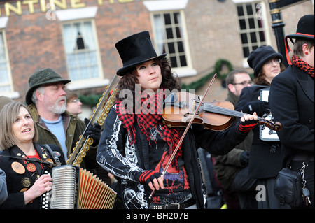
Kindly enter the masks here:
[[[36, 110], [36, 106], [33, 103], [29, 105], [29, 111], [38, 129], [39, 139], [37, 143], [55, 144], [61, 148], [57, 137], [52, 134], [48, 127], [45, 126], [45, 123], [41, 120], [41, 117], [38, 115]], [[79, 141], [80, 135], [83, 134], [83, 131], [85, 130], [85, 123], [67, 111], [62, 114], [62, 122], [64, 123], [64, 129], [66, 131], [66, 148], [68, 150], [67, 157], [69, 157], [73, 148], [76, 147], [76, 143]], [[90, 147], [90, 150], [87, 152], [87, 155], [80, 164], [80, 167], [88, 170], [97, 167], [95, 156], [96, 148]]]

